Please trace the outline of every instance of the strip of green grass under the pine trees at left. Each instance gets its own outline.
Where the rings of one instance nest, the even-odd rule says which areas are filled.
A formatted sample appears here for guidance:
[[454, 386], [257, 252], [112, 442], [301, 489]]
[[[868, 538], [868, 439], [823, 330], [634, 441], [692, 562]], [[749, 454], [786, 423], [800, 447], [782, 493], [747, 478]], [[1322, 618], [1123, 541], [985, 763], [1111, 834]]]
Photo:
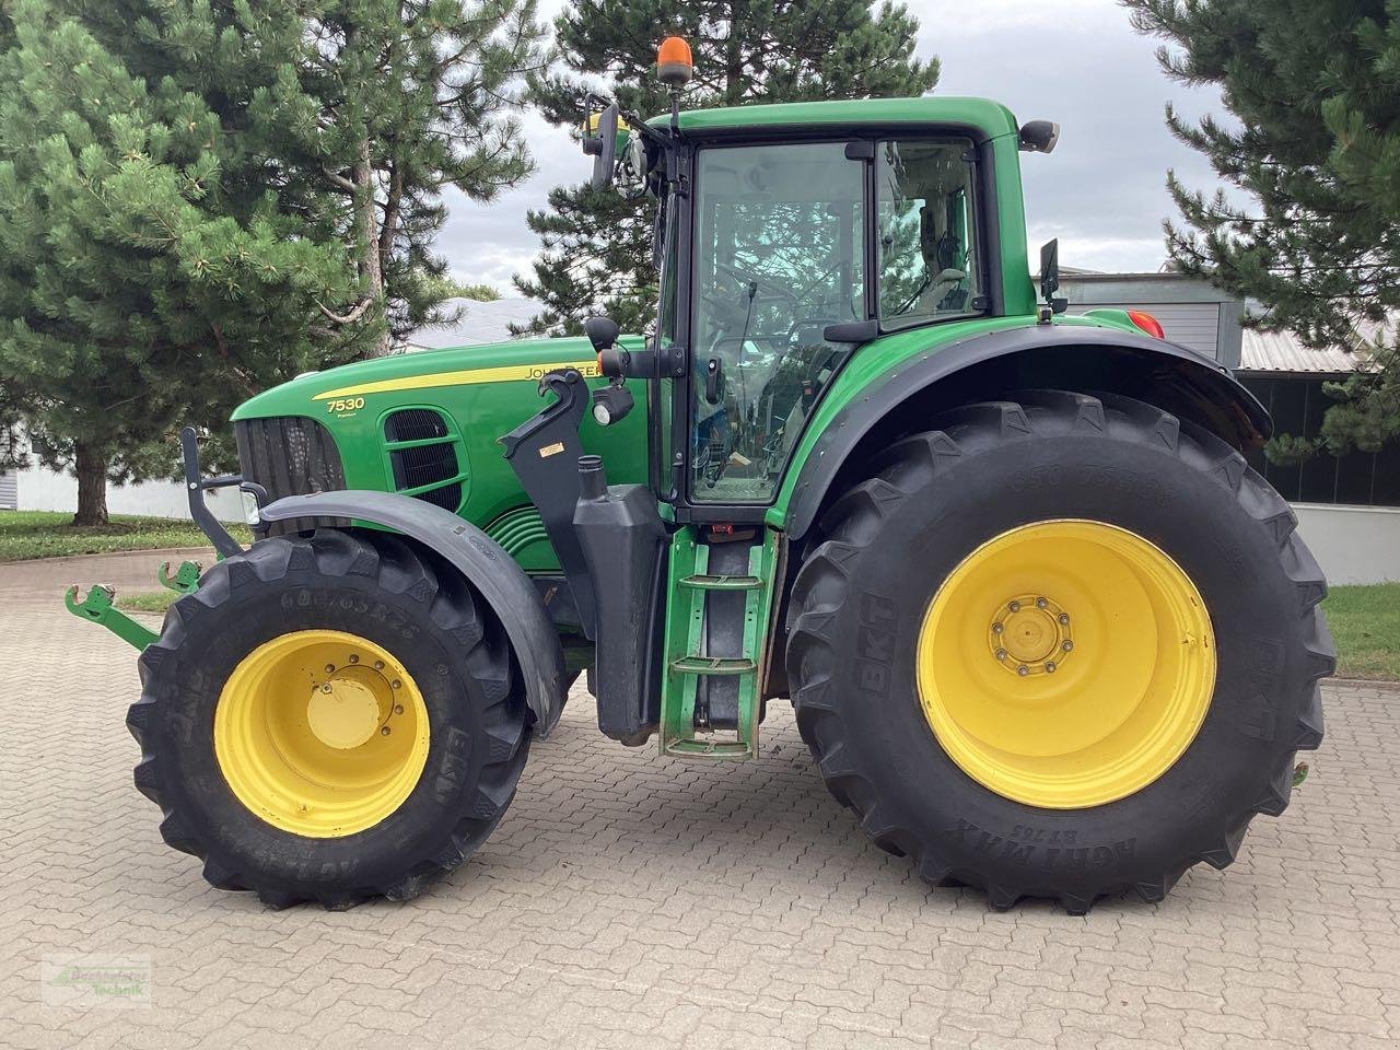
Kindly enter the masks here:
[[[108, 525], [78, 526], [71, 521], [73, 515], [63, 511], [0, 511], [0, 561], [209, 546], [192, 521], [123, 514], [112, 515]], [[245, 525], [230, 525], [228, 531], [241, 543], [252, 542]]]

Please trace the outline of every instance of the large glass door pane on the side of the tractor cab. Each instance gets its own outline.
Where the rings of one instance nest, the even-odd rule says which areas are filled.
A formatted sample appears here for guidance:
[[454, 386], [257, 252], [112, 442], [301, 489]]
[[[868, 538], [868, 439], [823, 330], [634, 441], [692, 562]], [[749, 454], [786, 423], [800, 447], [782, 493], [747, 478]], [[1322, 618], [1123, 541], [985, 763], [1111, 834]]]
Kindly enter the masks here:
[[864, 321], [864, 165], [844, 143], [701, 150], [692, 497], [769, 503], [818, 393]]

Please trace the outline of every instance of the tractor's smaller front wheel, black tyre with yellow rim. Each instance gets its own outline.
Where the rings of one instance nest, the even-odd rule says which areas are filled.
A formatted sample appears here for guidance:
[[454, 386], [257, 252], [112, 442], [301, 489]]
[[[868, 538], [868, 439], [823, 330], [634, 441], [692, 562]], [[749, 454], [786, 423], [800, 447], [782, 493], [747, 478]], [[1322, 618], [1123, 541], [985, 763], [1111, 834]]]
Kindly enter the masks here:
[[161, 834], [274, 906], [416, 896], [484, 841], [528, 752], [501, 627], [384, 533], [221, 561], [140, 671], [127, 725]]

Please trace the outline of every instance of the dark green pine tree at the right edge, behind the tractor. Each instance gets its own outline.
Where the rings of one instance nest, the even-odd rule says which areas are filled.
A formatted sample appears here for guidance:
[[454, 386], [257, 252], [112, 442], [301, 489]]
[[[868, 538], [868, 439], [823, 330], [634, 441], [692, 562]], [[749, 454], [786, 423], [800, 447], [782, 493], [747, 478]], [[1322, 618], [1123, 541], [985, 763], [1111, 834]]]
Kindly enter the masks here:
[[[1169, 174], [1182, 221], [1168, 248], [1266, 312], [1247, 323], [1296, 332], [1309, 346], [1351, 346], [1372, 361], [1329, 385], [1322, 444], [1376, 451], [1400, 440], [1400, 8], [1387, 0], [1124, 0], [1137, 28], [1184, 84], [1221, 88], [1236, 118], [1170, 130], [1245, 192], [1207, 195]], [[1296, 459], [1309, 442], [1278, 442]]]

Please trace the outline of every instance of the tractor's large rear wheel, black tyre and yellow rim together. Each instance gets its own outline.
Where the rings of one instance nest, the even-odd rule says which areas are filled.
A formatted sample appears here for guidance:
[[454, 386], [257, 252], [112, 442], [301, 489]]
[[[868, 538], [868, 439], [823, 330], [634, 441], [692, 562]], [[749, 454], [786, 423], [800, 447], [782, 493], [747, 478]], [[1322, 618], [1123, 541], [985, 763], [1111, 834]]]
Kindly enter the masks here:
[[1039, 391], [872, 465], [794, 587], [788, 675], [832, 792], [994, 906], [1159, 900], [1229, 864], [1322, 739], [1326, 587], [1218, 438]]

